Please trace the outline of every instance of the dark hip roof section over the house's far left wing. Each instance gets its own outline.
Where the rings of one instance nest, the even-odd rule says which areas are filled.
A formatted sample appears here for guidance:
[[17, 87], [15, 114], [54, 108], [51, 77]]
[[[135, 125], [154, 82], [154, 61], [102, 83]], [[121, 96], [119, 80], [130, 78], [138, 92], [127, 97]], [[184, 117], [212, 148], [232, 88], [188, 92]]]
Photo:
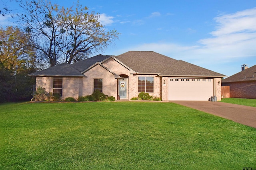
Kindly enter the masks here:
[[62, 63], [45, 70], [37, 71], [29, 76], [72, 76], [72, 77], [86, 77], [84, 74], [81, 74], [80, 71], [72, 67], [68, 63]]

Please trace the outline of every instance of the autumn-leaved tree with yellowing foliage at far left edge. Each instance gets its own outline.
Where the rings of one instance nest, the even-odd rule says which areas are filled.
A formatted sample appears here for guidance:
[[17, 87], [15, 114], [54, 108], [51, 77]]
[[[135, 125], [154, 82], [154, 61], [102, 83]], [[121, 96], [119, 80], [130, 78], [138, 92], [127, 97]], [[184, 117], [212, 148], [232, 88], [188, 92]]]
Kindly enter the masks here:
[[35, 51], [29, 34], [17, 27], [0, 27], [0, 102], [31, 98]]

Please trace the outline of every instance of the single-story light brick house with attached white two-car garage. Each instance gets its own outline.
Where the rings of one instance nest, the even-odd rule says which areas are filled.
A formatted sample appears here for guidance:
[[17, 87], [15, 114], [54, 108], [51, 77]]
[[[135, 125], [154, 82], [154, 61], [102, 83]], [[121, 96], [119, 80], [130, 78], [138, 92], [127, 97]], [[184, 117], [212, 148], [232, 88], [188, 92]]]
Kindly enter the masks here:
[[97, 55], [74, 64], [34, 72], [36, 87], [78, 98], [100, 90], [117, 100], [140, 92], [167, 100], [221, 100], [223, 74], [155, 53], [128, 51], [118, 56]]

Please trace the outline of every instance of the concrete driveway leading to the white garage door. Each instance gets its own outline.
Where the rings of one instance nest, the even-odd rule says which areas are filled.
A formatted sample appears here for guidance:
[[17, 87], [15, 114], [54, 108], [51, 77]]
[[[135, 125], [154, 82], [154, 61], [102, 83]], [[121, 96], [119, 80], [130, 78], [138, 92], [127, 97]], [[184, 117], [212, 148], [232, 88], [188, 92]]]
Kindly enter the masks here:
[[170, 101], [256, 128], [256, 107], [209, 101]]

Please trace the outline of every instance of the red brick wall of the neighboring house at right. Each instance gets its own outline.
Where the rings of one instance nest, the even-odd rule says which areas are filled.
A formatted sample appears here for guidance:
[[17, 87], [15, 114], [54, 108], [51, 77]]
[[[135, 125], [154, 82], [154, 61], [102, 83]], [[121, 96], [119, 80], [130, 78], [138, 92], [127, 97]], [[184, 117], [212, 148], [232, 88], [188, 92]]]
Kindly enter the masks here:
[[222, 83], [230, 86], [230, 98], [256, 99], [256, 81]]

